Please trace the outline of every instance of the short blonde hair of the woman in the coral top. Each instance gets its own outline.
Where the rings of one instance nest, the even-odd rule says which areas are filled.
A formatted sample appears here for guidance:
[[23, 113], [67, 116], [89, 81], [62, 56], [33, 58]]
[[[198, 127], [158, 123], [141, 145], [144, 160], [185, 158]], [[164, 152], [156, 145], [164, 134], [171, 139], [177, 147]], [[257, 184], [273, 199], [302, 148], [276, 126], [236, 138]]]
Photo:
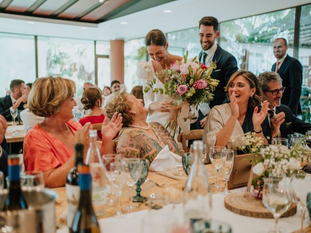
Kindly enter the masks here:
[[28, 108], [37, 116], [57, 115], [62, 103], [73, 98], [76, 92], [74, 81], [61, 77], [39, 78], [28, 95]]

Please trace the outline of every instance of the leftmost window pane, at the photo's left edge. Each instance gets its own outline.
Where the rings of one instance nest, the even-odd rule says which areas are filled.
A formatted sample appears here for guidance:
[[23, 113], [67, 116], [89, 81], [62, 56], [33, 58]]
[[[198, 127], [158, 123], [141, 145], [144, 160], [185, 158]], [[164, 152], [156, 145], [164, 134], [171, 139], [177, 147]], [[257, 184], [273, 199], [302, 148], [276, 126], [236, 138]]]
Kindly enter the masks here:
[[6, 95], [13, 79], [35, 81], [34, 36], [0, 33], [0, 98]]

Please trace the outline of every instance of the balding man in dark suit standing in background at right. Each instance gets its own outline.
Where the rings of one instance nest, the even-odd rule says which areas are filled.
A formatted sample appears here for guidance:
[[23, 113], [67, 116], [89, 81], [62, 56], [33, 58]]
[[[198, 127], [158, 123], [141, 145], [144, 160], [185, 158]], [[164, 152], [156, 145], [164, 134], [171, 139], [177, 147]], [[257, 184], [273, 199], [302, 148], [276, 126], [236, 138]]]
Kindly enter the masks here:
[[273, 64], [271, 71], [278, 73], [282, 79], [285, 92], [281, 99], [281, 104], [287, 105], [294, 115], [301, 114], [300, 96], [302, 86], [302, 65], [301, 63], [287, 54], [287, 40], [277, 38], [273, 42], [273, 54], [276, 63]]

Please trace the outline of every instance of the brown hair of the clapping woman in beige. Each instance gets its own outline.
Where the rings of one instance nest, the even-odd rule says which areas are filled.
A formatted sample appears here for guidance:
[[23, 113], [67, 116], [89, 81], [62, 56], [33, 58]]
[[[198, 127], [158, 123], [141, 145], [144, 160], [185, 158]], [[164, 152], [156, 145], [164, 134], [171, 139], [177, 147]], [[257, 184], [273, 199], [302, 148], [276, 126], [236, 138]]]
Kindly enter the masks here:
[[[262, 94], [262, 91], [260, 89], [260, 84], [259, 84], [259, 81], [258, 81], [258, 78], [256, 77], [255, 74], [253, 74], [252, 72], [250, 71], [246, 71], [246, 70], [238, 70], [236, 72], [234, 72], [226, 87], [225, 87], [225, 91], [228, 91], [229, 90], [229, 86], [230, 86], [230, 83], [238, 76], [242, 75], [246, 81], [248, 82], [250, 88], [256, 88], [256, 91], [253, 95], [253, 98], [250, 98], [250, 100], [248, 101], [248, 106], [251, 107], [251, 108], [255, 108], [256, 106], [258, 106], [260, 103], [261, 103], [261, 94]], [[229, 97], [229, 92], [227, 93], [227, 97], [228, 99], [230, 99]]]

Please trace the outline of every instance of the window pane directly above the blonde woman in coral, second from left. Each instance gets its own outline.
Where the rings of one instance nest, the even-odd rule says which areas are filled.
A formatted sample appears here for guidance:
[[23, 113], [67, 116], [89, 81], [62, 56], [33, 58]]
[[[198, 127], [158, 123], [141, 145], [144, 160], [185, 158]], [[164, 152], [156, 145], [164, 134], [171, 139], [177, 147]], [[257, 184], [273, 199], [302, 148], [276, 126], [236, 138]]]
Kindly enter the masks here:
[[95, 83], [94, 41], [38, 36], [38, 75], [75, 81], [77, 96], [83, 83]]

